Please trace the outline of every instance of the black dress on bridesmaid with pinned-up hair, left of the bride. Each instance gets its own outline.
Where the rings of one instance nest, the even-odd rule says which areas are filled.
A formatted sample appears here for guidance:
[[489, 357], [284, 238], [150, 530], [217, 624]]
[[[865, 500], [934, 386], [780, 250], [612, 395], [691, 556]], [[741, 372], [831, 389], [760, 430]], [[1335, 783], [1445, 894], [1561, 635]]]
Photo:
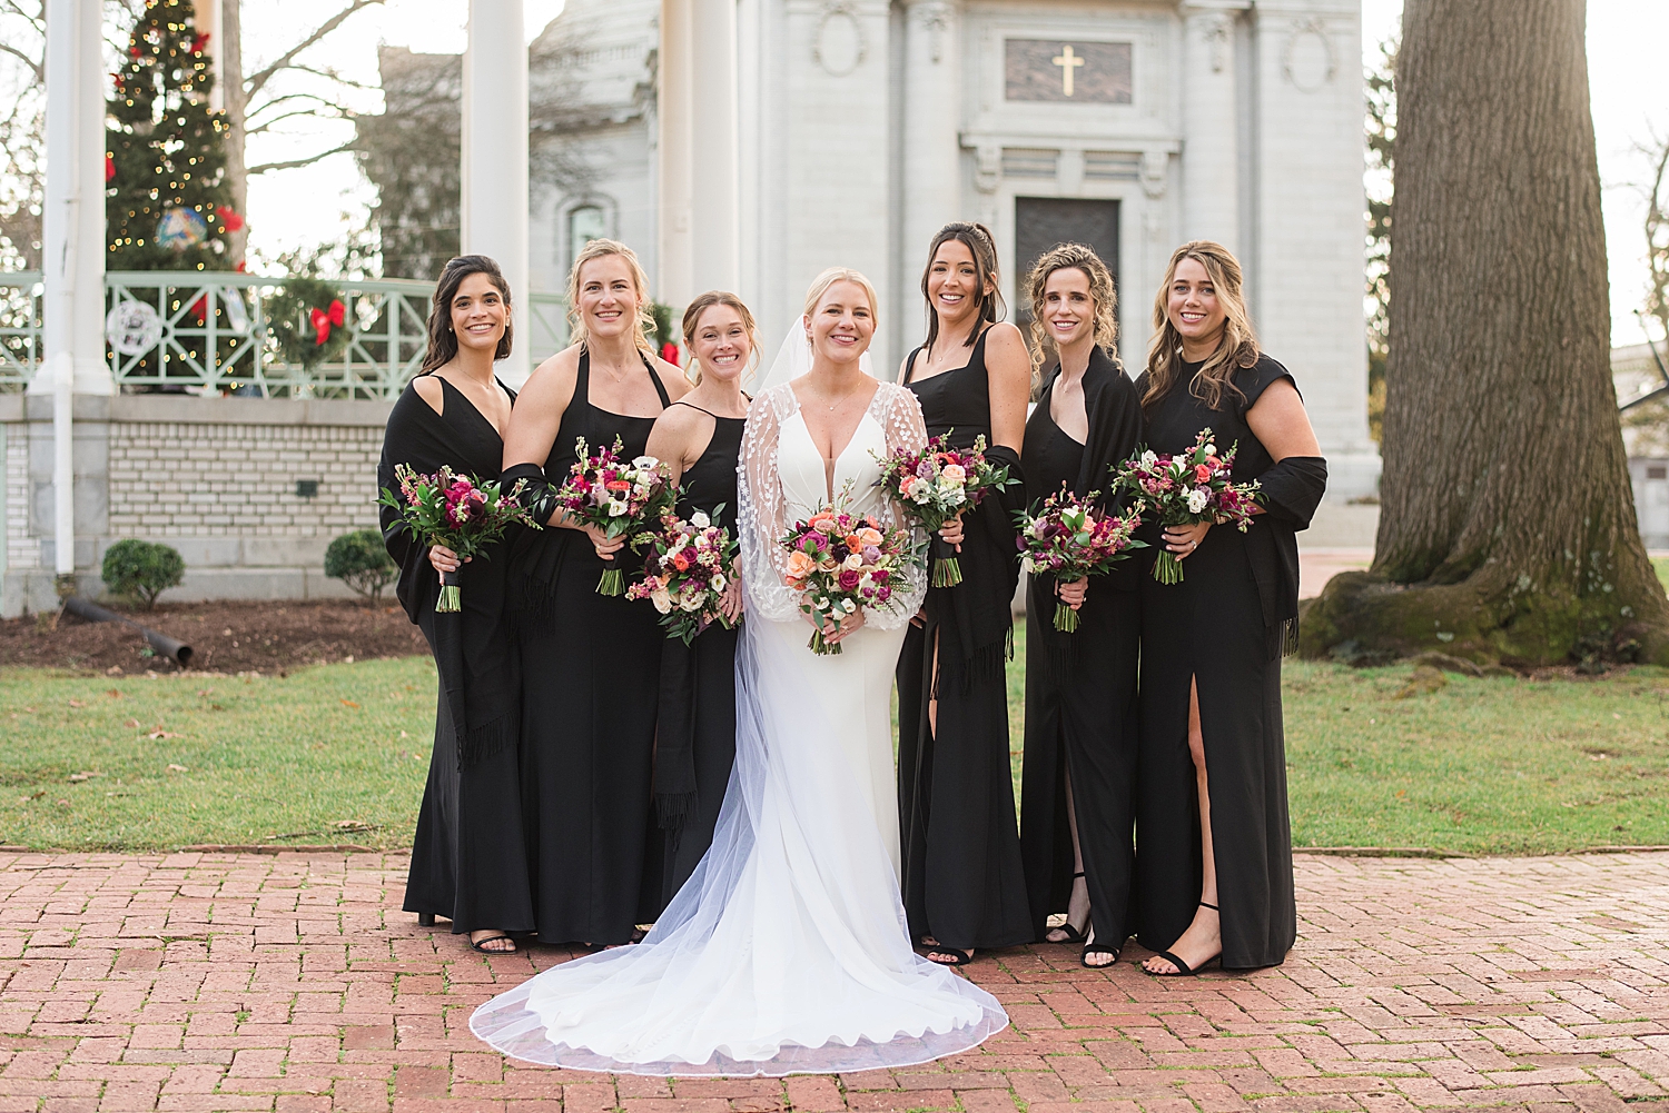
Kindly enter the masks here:
[[[689, 402], [673, 402], [689, 405]], [[701, 410], [706, 414], [708, 410]], [[706, 511], [736, 537], [736, 459], [746, 417], [713, 419], [713, 439], [684, 469], [679, 517]], [[654, 804], [666, 831], [661, 904], [684, 886], [713, 844], [719, 804], [736, 761], [736, 637], [741, 629], [714, 622], [688, 646], [669, 637], [661, 647], [661, 719], [656, 728]]]

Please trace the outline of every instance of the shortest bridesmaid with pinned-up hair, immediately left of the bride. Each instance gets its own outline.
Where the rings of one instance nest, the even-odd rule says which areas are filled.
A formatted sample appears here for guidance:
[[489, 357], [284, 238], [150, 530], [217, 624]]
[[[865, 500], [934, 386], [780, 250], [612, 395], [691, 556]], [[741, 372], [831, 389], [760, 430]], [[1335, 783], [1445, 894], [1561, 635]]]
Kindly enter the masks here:
[[[649, 456], [683, 482], [679, 517], [704, 511], [736, 537], [736, 459], [748, 424], [743, 375], [758, 347], [753, 314], [734, 294], [709, 290], [684, 310], [684, 350], [696, 387], [666, 407], [649, 432]], [[741, 617], [741, 581], [724, 614]], [[661, 708], [654, 748], [654, 808], [666, 831], [661, 903], [684, 886], [719, 819], [736, 759], [736, 636], [714, 622], [684, 646], [661, 647]]]

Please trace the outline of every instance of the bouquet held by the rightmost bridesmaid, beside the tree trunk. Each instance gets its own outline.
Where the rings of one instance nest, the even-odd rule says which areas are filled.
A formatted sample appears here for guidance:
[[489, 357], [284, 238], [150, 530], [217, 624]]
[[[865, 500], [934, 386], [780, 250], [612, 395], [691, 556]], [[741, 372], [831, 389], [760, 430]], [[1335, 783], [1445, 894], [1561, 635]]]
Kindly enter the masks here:
[[[1158, 514], [1162, 526], [1193, 526], [1197, 522], [1213, 522], [1218, 526], [1235, 526], [1240, 532], [1252, 524], [1252, 511], [1258, 499], [1258, 484], [1232, 482], [1235, 467], [1235, 451], [1238, 442], [1228, 446], [1225, 456], [1217, 454], [1212, 442], [1210, 427], [1202, 429], [1193, 439], [1193, 447], [1177, 456], [1158, 456], [1143, 451], [1115, 471], [1115, 486], [1135, 496], [1132, 506], [1137, 512], [1152, 509]], [[1180, 584], [1183, 581], [1182, 562], [1170, 552], [1160, 549], [1153, 562], [1153, 579], [1162, 584]]]

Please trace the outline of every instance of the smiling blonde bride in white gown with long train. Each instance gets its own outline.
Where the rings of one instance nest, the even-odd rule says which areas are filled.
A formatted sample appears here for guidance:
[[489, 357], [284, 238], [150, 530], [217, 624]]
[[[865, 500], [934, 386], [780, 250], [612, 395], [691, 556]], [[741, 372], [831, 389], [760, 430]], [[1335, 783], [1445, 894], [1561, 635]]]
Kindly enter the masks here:
[[783, 581], [778, 539], [843, 491], [896, 524], [871, 452], [926, 442], [915, 395], [860, 365], [875, 309], [868, 279], [824, 270], [806, 295], [806, 344], [784, 344], [809, 370], [768, 384], [748, 414], [736, 766], [713, 848], [643, 943], [482, 1005], [471, 1028], [499, 1051], [633, 1075], [779, 1076], [925, 1063], [1008, 1023], [990, 993], [915, 954], [898, 898], [890, 692], [925, 577], [915, 571], [891, 609], [829, 624], [838, 656], [808, 649], [813, 619]]

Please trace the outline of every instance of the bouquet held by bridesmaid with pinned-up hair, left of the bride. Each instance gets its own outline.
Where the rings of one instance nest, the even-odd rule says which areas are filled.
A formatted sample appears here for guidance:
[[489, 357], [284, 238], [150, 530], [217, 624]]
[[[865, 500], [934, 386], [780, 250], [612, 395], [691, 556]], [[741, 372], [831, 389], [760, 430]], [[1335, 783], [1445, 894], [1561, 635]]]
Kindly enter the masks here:
[[731, 629], [719, 606], [736, 579], [738, 546], [728, 529], [696, 511], [689, 521], [668, 514], [659, 531], [638, 539], [653, 544], [654, 554], [644, 564], [644, 577], [626, 589], [628, 599], [653, 602], [666, 636], [681, 637], [686, 646], [714, 621]]

